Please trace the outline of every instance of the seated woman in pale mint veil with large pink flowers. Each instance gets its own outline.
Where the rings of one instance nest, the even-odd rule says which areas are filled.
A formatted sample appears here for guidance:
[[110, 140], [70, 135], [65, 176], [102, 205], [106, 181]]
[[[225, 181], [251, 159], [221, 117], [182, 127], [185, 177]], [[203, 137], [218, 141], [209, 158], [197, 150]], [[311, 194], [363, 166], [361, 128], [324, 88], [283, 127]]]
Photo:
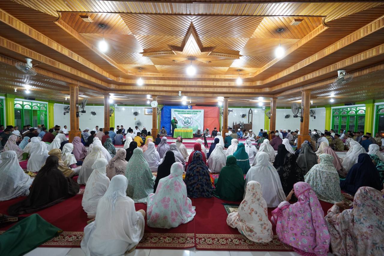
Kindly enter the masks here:
[[190, 222], [196, 212], [187, 197], [183, 182], [183, 165], [175, 162], [170, 175], [162, 178], [155, 194], [147, 197], [147, 225], [154, 228], [175, 228]]

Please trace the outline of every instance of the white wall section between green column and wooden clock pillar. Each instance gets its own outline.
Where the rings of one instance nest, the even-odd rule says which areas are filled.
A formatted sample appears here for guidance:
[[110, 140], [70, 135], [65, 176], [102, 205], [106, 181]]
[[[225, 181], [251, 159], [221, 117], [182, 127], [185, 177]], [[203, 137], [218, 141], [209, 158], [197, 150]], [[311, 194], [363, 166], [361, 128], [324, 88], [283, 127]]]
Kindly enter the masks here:
[[[132, 129], [135, 128], [135, 122], [137, 120], [141, 121], [141, 130], [143, 126], [145, 126], [147, 131], [151, 131], [152, 129], [152, 115], [144, 115], [144, 108], [147, 107], [124, 107], [118, 106], [115, 107], [115, 128], [116, 125], [123, 125], [127, 130], [128, 127]], [[139, 115], [134, 116], [133, 112], [139, 112]], [[136, 118], [136, 120], [134, 119]]]

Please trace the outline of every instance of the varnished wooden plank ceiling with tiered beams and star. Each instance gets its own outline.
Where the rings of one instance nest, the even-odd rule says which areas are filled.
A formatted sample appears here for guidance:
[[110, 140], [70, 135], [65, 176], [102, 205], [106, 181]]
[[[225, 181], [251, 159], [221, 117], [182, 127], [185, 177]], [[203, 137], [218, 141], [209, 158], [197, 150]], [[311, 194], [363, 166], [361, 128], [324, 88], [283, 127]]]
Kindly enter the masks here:
[[[236, 3], [238, 2], [238, 3]], [[314, 104], [384, 98], [384, 3], [377, 1], [94, 1], [0, 2], [0, 87], [4, 92], [61, 101], [68, 84], [103, 103], [278, 105], [300, 100], [310, 89]], [[81, 16], [88, 16], [86, 22]], [[292, 25], [293, 21], [300, 21]], [[105, 25], [101, 28], [99, 25]], [[281, 33], [277, 30], [283, 28]], [[109, 45], [99, 51], [101, 39]], [[275, 57], [281, 44], [285, 54]], [[26, 77], [14, 67], [24, 57], [37, 64]], [[186, 74], [191, 57], [197, 73]], [[337, 70], [354, 75], [334, 86]], [[236, 84], [238, 77], [242, 85]], [[143, 86], [136, 80], [141, 77]], [[26, 95], [25, 95], [26, 96]]]

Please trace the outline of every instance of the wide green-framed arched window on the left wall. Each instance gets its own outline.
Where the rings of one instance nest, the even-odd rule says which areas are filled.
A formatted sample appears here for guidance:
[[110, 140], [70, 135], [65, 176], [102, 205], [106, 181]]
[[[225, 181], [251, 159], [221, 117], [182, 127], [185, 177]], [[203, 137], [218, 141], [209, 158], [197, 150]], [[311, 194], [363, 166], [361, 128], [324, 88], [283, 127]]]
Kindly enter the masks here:
[[15, 100], [15, 125], [19, 126], [22, 130], [24, 125], [37, 125], [44, 124], [48, 127], [48, 105], [45, 103], [29, 102]]

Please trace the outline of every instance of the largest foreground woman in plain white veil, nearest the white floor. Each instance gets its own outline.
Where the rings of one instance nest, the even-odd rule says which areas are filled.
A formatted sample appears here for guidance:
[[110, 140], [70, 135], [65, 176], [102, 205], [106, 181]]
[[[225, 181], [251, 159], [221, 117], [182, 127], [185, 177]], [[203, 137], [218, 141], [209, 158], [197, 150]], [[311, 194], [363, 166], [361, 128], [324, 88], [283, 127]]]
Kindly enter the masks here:
[[135, 203], [126, 196], [128, 180], [118, 174], [99, 200], [94, 222], [84, 228], [81, 249], [86, 256], [121, 256], [131, 252], [144, 235], [145, 212], [136, 212]]

